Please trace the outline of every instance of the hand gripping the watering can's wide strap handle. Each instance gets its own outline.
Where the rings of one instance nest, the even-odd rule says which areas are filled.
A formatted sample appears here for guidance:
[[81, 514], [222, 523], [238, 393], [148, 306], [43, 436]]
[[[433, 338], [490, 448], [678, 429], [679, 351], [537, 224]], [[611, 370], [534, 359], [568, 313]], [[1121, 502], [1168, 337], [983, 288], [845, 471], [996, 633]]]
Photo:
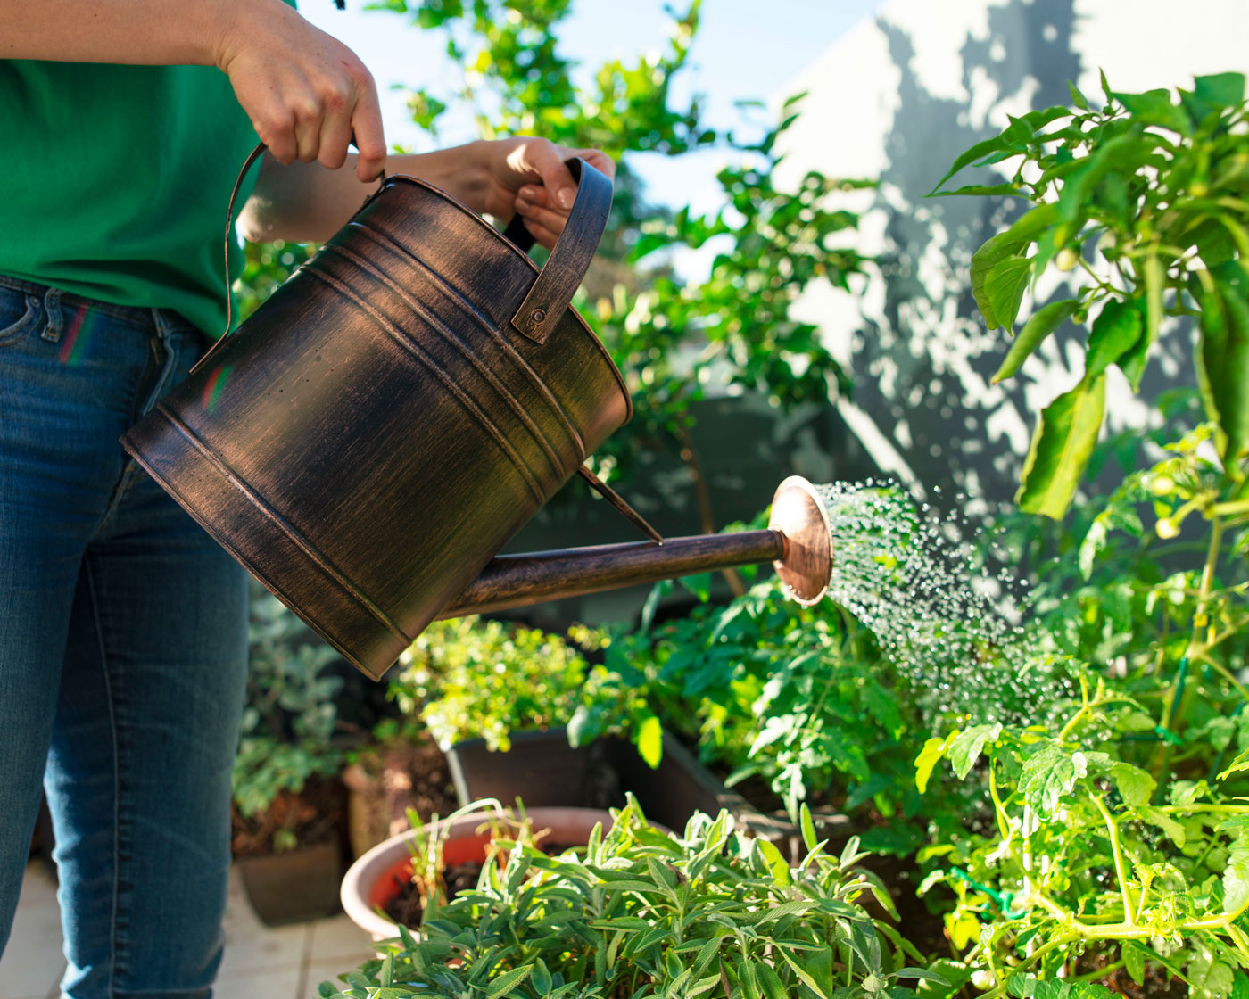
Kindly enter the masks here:
[[548, 250], [563, 231], [577, 185], [565, 160], [580, 156], [591, 166], [616, 176], [616, 164], [602, 150], [567, 149], [546, 139], [517, 136], [477, 144], [485, 186], [470, 202], [501, 221], [520, 215], [525, 227]]

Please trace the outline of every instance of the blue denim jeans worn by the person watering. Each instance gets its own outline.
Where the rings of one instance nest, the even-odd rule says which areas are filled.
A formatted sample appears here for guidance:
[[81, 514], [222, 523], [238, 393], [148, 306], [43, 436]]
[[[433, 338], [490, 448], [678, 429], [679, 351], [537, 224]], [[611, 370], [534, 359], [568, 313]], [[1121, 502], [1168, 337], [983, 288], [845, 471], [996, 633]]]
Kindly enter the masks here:
[[246, 576], [117, 443], [205, 347], [0, 277], [0, 949], [47, 793], [74, 999], [209, 997]]

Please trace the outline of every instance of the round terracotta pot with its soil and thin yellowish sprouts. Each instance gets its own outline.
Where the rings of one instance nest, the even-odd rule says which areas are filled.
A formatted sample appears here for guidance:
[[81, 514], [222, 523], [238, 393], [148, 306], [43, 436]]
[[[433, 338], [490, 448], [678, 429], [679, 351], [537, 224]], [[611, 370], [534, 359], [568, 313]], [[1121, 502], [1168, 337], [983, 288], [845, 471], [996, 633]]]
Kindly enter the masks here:
[[497, 800], [473, 802], [446, 819], [397, 833], [362, 854], [342, 879], [343, 912], [375, 940], [415, 928], [472, 888], [485, 868], [506, 864], [511, 850], [541, 845], [581, 847], [596, 828], [611, 828], [607, 812], [591, 808], [533, 808], [515, 814]]

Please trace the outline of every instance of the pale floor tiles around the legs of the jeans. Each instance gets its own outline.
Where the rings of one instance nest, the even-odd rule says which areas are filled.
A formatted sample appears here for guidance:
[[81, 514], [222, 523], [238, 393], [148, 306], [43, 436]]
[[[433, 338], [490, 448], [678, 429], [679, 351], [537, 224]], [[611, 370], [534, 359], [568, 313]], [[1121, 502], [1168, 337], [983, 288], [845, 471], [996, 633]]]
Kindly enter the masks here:
[[[0, 999], [56, 999], [65, 970], [56, 888], [39, 864], [26, 868], [17, 917], [0, 957]], [[226, 953], [216, 999], [311, 999], [317, 985], [371, 958], [367, 934], [347, 917], [270, 928], [251, 910], [242, 885], [230, 880]]]

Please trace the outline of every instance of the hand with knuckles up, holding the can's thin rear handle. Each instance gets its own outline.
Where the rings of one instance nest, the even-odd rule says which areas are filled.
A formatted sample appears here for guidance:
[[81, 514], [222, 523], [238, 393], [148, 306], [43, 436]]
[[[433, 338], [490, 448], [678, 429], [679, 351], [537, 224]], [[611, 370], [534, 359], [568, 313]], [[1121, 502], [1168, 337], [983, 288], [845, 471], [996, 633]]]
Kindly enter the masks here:
[[336, 170], [352, 141], [356, 176], [386, 167], [377, 87], [355, 52], [281, 0], [235, 4], [214, 61], [230, 77], [260, 141], [281, 164], [318, 161]]

